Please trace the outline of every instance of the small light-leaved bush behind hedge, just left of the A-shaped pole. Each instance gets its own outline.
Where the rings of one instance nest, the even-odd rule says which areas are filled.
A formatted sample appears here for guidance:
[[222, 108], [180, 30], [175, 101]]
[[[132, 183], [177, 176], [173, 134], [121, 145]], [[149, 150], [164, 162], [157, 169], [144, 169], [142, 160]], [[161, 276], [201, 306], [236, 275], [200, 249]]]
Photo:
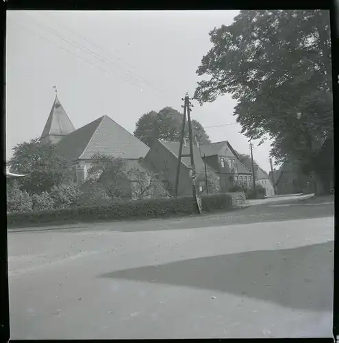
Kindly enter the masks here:
[[132, 180], [133, 198], [141, 200], [145, 198], [169, 197], [169, 193], [164, 189], [160, 177], [153, 172], [149, 172], [141, 167], [133, 167], [129, 169], [127, 174]]

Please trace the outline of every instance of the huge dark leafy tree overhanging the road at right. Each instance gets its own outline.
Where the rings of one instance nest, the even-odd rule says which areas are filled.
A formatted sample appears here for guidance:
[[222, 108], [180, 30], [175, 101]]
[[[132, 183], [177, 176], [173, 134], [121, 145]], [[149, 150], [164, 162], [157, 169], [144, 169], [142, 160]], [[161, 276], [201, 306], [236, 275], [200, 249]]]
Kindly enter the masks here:
[[203, 104], [231, 93], [242, 133], [261, 141], [270, 136], [277, 163], [292, 159], [316, 175], [320, 190], [319, 158], [333, 137], [329, 13], [241, 11], [231, 25], [213, 29], [210, 40], [197, 70], [210, 78], [194, 97]]

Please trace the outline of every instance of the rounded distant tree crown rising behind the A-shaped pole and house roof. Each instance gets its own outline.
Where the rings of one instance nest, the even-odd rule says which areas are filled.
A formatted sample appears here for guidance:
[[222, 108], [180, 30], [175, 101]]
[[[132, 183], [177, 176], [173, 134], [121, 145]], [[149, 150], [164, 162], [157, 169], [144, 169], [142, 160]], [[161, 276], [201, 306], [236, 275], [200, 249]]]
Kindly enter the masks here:
[[[166, 141], [179, 141], [181, 135], [181, 126], [183, 114], [171, 107], [162, 108], [158, 113], [151, 111], [142, 115], [137, 123], [134, 136], [149, 147], [155, 139], [164, 139]], [[208, 134], [201, 126], [199, 121], [192, 119], [192, 135], [195, 140], [201, 144], [210, 143]], [[185, 137], [188, 138], [188, 123], [186, 118]]]

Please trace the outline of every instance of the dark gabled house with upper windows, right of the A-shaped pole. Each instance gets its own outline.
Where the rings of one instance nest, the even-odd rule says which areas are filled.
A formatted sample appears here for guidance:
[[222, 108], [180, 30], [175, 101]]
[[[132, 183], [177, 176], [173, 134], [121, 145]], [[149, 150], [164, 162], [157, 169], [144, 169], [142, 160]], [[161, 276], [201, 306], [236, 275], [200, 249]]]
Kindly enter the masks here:
[[251, 187], [251, 171], [240, 161], [238, 154], [228, 141], [201, 145], [201, 156], [218, 174], [221, 191], [227, 192], [234, 185]]

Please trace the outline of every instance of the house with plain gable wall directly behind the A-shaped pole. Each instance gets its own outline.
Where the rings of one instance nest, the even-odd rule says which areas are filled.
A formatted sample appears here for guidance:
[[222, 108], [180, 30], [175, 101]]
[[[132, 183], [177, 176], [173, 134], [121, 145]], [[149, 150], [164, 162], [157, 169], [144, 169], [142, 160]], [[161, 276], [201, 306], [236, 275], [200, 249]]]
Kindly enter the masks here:
[[[179, 142], [163, 141], [156, 139], [151, 146], [151, 149], [145, 156], [145, 164], [147, 167], [161, 175], [164, 188], [175, 194], [175, 182], [177, 178], [177, 163], [179, 158]], [[190, 147], [184, 141], [182, 154], [190, 154]], [[193, 145], [193, 158], [195, 173], [197, 176], [205, 173], [205, 163], [201, 158], [201, 152], [197, 145]], [[206, 166], [208, 172], [212, 172], [211, 167]], [[205, 179], [202, 178], [197, 185], [197, 193], [205, 193]], [[190, 175], [190, 157], [184, 156], [181, 158], [178, 196], [192, 195], [192, 178]]]

